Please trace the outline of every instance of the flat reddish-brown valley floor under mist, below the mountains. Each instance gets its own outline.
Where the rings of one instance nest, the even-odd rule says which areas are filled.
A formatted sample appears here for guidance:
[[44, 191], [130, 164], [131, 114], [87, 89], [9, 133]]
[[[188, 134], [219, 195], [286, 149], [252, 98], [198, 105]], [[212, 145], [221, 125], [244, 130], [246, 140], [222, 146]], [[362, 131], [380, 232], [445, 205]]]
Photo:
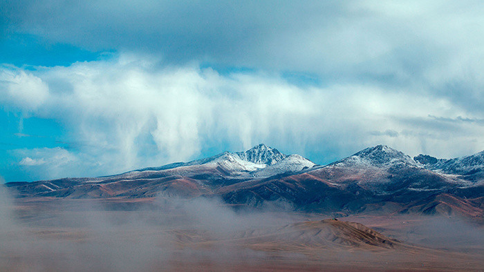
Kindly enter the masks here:
[[[482, 271], [459, 217], [236, 211], [216, 200], [3, 202], [1, 271]], [[5, 220], [8, 218], [8, 220]], [[354, 223], [353, 223], [354, 222]]]

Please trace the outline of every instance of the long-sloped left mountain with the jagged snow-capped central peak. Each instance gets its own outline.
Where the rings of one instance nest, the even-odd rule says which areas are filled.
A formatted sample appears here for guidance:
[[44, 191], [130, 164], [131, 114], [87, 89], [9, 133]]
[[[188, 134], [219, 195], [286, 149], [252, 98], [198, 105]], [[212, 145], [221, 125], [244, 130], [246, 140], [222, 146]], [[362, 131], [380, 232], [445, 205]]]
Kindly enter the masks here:
[[183, 197], [210, 195], [216, 189], [248, 179], [295, 173], [313, 166], [299, 155], [283, 155], [264, 144], [239, 153], [177, 162], [156, 168], [93, 178], [66, 178], [40, 182], [15, 182], [21, 197], [156, 197], [160, 192]]

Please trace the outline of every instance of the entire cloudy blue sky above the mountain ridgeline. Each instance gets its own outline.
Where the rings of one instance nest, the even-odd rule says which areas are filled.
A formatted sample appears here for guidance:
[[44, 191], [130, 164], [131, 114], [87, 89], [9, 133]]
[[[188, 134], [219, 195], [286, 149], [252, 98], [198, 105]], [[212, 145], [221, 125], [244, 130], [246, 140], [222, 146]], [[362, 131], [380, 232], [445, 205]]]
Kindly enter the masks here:
[[481, 1], [1, 1], [0, 177], [484, 149]]

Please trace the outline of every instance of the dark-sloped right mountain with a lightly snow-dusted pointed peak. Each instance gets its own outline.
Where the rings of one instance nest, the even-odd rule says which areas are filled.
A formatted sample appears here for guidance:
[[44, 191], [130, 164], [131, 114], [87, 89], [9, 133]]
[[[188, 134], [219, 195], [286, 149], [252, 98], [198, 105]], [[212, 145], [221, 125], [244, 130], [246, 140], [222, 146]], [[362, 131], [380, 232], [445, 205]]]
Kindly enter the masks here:
[[[482, 216], [483, 188], [482, 182], [442, 175], [398, 150], [374, 146], [327, 166], [239, 182], [225, 186], [219, 193], [231, 204], [281, 206], [305, 212], [416, 212], [475, 217]], [[452, 196], [453, 204], [442, 201], [449, 199], [443, 195]], [[446, 208], [434, 208], [439, 204]]]

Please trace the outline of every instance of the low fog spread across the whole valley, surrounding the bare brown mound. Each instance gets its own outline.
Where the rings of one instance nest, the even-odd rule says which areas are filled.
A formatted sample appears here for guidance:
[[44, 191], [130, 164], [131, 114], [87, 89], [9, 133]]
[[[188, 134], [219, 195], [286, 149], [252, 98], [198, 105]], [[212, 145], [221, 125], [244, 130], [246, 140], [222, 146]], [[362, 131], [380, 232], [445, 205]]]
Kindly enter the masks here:
[[[334, 249], [305, 249], [308, 245], [301, 244], [301, 250], [296, 251], [254, 250], [238, 240], [240, 233], [270, 233], [287, 224], [327, 217], [274, 208], [234, 209], [217, 198], [206, 197], [187, 200], [161, 194], [150, 203], [15, 200], [0, 186], [0, 218], [1, 271], [213, 271], [248, 269], [247, 265], [263, 270], [259, 264], [267, 269], [322, 269], [322, 265], [342, 264], [409, 265], [409, 260], [420, 266], [446, 258], [443, 255], [429, 261], [423, 253], [342, 250], [337, 244]], [[404, 227], [406, 223], [399, 224], [398, 219], [395, 222], [401, 227], [376, 229], [418, 246], [418, 251], [423, 246], [445, 249], [443, 253], [456, 251], [474, 256], [483, 252], [482, 226], [445, 217], [403, 218], [407, 223], [416, 223]], [[357, 217], [339, 220], [358, 221]], [[367, 225], [371, 222], [375, 221], [366, 220]], [[280, 235], [277, 237], [283, 240], [284, 233]]]

